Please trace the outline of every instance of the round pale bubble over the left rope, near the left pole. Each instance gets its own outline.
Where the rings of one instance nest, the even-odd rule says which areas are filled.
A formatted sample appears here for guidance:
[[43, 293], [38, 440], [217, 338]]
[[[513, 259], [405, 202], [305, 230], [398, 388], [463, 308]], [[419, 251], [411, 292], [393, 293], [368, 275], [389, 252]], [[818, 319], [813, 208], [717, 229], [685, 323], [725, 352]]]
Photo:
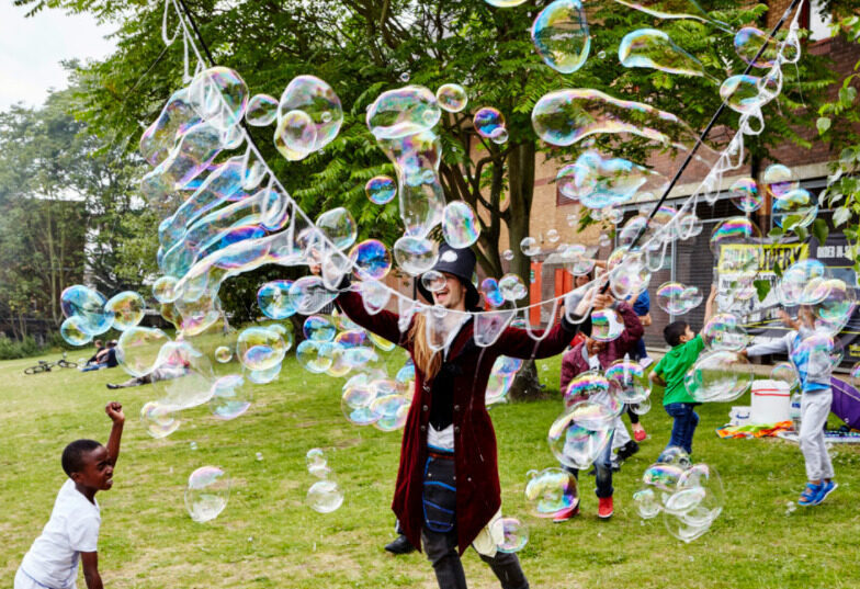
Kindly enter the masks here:
[[197, 114], [219, 131], [239, 124], [248, 106], [248, 86], [233, 69], [216, 66], [191, 81], [189, 99]]

